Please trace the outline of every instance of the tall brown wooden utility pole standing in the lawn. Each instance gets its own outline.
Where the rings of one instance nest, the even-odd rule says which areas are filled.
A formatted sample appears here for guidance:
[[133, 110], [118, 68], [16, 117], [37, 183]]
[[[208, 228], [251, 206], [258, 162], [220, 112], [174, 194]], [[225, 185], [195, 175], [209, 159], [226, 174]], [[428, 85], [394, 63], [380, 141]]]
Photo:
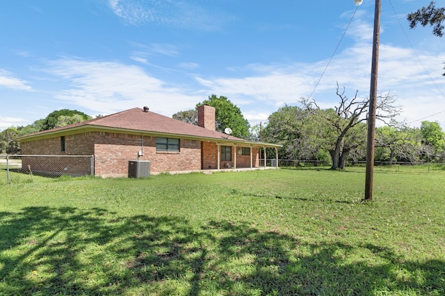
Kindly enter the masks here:
[[371, 89], [369, 92], [368, 139], [366, 141], [366, 181], [364, 188], [364, 200], [373, 199], [375, 110], [377, 109], [378, 49], [380, 44], [381, 7], [382, 1], [375, 0], [373, 57], [371, 64]]

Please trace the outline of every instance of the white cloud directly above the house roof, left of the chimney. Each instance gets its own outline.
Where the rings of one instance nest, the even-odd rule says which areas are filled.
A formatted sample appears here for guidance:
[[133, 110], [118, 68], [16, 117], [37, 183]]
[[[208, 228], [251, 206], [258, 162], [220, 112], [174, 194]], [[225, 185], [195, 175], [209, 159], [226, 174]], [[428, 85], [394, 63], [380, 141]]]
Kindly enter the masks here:
[[49, 72], [70, 85], [56, 98], [97, 114], [147, 105], [154, 112], [170, 116], [202, 101], [200, 96], [187, 95], [182, 89], [148, 76], [140, 67], [118, 62], [56, 60], [50, 63]]

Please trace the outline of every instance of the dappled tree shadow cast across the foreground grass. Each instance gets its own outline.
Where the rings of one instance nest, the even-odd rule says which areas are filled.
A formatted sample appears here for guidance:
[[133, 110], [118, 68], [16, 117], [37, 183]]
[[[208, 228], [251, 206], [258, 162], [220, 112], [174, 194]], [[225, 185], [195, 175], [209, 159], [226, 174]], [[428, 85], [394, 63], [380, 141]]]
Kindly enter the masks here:
[[226, 220], [26, 207], [0, 233], [1, 295], [445, 294], [444, 261]]

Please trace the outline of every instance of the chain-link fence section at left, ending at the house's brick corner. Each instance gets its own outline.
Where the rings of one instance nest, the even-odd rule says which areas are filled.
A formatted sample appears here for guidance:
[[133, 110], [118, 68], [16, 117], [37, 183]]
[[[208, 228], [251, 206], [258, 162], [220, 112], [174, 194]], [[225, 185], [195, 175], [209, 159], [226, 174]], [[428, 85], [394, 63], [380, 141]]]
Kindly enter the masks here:
[[94, 175], [93, 155], [0, 155], [0, 171], [6, 171], [6, 180], [13, 175], [41, 177], [72, 177]]

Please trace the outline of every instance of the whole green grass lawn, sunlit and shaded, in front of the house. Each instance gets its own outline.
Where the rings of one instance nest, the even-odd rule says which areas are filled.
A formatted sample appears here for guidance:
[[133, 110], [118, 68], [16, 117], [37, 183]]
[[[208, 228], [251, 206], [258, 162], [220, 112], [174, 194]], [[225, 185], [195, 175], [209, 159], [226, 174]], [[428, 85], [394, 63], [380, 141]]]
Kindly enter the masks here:
[[0, 170], [0, 295], [445, 295], [445, 171]]

